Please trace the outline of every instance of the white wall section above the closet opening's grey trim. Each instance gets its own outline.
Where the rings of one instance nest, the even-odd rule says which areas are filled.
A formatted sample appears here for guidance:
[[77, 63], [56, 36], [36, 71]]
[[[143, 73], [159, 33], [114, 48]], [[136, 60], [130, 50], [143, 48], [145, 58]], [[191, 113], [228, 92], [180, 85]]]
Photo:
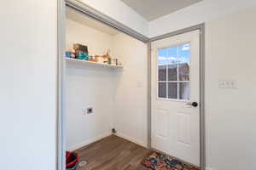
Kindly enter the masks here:
[[148, 21], [120, 0], [81, 0], [125, 26], [148, 36]]

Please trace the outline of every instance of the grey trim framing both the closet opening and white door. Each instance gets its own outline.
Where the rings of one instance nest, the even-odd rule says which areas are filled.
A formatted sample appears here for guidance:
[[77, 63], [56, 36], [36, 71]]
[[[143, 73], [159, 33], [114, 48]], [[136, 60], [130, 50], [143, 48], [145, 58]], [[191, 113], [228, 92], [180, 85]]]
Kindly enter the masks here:
[[173, 37], [189, 31], [200, 30], [200, 166], [201, 170], [206, 168], [205, 154], [205, 24], [191, 26], [179, 31], [173, 31], [158, 37], [148, 38], [141, 33], [123, 25], [117, 20], [113, 20], [106, 14], [102, 14], [95, 8], [91, 8], [79, 0], [57, 0], [57, 59], [56, 59], [56, 168], [57, 170], [65, 170], [65, 40], [66, 40], [66, 6], [78, 10], [94, 20], [98, 20], [118, 31], [121, 31], [139, 41], [148, 45], [148, 148], [151, 148], [151, 42]]

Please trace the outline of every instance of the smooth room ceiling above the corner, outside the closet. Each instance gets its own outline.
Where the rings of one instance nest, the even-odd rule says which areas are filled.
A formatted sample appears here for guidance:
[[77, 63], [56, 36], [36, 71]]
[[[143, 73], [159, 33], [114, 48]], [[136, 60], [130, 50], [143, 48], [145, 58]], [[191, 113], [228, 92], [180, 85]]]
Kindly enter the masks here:
[[121, 0], [145, 20], [151, 21], [202, 0]]

